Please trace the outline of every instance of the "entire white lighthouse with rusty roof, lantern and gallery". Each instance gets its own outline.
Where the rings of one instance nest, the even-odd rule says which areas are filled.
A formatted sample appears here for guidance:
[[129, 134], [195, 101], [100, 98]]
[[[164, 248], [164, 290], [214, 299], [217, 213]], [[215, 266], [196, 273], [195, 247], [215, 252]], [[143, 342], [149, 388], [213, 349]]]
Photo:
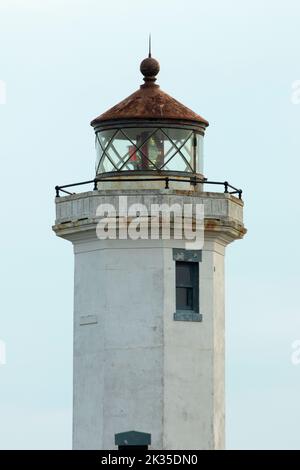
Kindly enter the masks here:
[[[221, 449], [224, 257], [246, 232], [241, 191], [204, 177], [208, 122], [155, 84], [151, 54], [141, 72], [91, 123], [96, 176], [80, 184], [93, 185], [56, 187], [53, 229], [75, 256], [73, 447]], [[204, 207], [203, 244], [175, 233], [186, 206], [195, 233]]]

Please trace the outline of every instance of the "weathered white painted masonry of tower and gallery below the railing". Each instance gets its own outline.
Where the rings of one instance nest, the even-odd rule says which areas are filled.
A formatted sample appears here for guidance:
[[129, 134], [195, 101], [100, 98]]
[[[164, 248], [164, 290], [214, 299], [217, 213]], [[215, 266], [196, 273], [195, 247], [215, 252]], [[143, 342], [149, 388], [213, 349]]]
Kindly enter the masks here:
[[[153, 449], [223, 448], [224, 251], [243, 235], [242, 203], [214, 193], [196, 199], [209, 222], [203, 321], [183, 322], [173, 320], [172, 256], [183, 241], [96, 237], [96, 206], [120, 193], [56, 199], [54, 230], [75, 254], [73, 446], [114, 449], [116, 433], [137, 430], [151, 433]], [[146, 205], [195, 199], [164, 190], [122, 194]]]

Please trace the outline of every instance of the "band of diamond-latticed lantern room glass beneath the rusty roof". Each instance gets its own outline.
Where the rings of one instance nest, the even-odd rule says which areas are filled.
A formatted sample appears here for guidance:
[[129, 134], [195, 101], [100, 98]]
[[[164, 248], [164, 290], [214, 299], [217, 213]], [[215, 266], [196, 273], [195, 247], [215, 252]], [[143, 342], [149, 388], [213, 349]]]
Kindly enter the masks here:
[[202, 140], [203, 137], [194, 131], [177, 128], [99, 131], [96, 136], [96, 172], [162, 170], [202, 173]]

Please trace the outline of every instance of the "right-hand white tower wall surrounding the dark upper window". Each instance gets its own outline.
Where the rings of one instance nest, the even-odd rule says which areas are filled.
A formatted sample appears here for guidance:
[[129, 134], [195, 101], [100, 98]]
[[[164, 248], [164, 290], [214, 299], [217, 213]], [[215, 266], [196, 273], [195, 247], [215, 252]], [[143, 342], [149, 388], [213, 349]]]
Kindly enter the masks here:
[[165, 252], [164, 448], [224, 447], [224, 246], [206, 241], [200, 263], [202, 322], [173, 320], [175, 265]]

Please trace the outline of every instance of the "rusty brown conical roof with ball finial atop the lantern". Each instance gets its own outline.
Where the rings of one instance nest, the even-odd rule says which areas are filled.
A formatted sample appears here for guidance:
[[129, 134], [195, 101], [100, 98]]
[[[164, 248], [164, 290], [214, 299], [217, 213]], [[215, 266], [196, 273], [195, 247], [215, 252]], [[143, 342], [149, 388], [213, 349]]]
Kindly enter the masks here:
[[142, 61], [140, 68], [145, 84], [141, 85], [135, 93], [93, 119], [92, 126], [105, 121], [122, 119], [178, 120], [190, 121], [201, 127], [209, 125], [206, 119], [172, 98], [154, 83], [155, 75], [159, 72], [157, 60], [149, 56]]

